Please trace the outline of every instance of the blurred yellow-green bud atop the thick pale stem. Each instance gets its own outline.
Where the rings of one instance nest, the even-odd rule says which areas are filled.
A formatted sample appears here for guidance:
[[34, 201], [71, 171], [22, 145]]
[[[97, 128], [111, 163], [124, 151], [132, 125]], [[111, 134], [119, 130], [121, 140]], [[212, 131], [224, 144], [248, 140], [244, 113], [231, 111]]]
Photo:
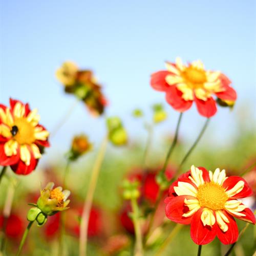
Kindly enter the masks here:
[[127, 132], [119, 117], [109, 117], [106, 125], [109, 130], [109, 139], [114, 145], [121, 146], [127, 143]]

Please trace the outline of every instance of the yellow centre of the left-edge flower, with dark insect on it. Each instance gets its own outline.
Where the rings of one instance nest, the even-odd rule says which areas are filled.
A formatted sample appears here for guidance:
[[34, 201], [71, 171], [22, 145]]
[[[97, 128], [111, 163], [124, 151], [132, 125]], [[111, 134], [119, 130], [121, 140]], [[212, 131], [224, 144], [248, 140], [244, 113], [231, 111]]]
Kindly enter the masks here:
[[34, 126], [26, 118], [16, 118], [11, 134], [19, 144], [32, 144], [35, 141]]

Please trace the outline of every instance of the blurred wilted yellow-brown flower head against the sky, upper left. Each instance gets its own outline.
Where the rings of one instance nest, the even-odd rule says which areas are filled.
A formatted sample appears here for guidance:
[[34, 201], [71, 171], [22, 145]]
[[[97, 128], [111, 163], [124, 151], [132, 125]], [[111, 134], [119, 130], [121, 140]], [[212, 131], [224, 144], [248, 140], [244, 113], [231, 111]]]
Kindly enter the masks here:
[[79, 70], [75, 63], [67, 61], [56, 71], [56, 77], [65, 86], [65, 92], [83, 101], [92, 115], [103, 114], [108, 102], [92, 71]]

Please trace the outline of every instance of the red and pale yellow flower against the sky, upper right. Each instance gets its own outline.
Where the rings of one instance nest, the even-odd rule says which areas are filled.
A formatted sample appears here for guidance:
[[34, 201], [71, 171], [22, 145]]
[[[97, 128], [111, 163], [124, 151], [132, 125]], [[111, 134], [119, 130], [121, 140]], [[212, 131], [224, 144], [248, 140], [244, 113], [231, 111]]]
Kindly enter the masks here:
[[200, 60], [187, 66], [180, 58], [176, 63], [166, 63], [166, 71], [158, 71], [151, 76], [151, 86], [157, 91], [166, 93], [166, 101], [177, 111], [188, 110], [193, 101], [198, 112], [205, 117], [214, 116], [217, 112], [217, 98], [234, 102], [237, 93], [230, 87], [231, 81], [222, 73], [204, 69]]

